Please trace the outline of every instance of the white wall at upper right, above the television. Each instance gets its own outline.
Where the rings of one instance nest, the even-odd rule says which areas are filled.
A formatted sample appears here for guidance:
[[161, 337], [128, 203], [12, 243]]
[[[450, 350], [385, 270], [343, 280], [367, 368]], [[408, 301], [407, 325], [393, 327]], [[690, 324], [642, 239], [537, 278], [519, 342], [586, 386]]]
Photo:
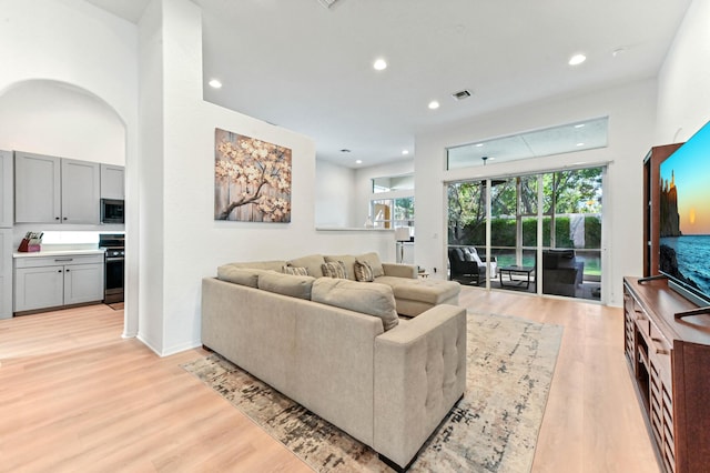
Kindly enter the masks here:
[[656, 144], [687, 141], [710, 120], [710, 2], [694, 0], [658, 76]]

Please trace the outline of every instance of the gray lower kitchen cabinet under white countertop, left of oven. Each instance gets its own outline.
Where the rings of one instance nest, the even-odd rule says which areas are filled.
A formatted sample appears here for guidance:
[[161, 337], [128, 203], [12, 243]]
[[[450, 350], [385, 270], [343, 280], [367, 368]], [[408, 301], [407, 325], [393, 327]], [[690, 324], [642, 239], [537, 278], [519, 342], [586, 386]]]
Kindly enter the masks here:
[[102, 299], [101, 253], [14, 260], [14, 312], [100, 302]]

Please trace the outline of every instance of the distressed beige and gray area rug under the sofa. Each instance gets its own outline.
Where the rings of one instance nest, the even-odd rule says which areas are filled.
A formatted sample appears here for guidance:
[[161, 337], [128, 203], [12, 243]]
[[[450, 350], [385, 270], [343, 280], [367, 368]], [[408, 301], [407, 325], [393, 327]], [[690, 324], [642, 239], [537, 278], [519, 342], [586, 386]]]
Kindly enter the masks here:
[[[529, 472], [562, 328], [468, 313], [466, 393], [410, 472]], [[389, 472], [377, 454], [216, 353], [184, 364], [317, 472]]]

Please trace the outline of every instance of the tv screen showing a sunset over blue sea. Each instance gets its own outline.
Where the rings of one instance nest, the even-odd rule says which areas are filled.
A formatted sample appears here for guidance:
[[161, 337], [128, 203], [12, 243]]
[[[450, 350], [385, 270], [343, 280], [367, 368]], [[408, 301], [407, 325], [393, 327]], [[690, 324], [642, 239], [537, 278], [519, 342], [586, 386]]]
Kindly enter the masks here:
[[710, 122], [660, 164], [659, 270], [710, 304]]

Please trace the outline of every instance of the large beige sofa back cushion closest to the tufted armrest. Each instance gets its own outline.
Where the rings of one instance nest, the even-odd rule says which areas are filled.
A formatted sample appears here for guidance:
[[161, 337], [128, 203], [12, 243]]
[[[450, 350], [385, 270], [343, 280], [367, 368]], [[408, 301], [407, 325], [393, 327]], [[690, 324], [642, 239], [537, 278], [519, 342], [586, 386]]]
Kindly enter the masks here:
[[311, 300], [378, 316], [385, 331], [399, 323], [395, 296], [392, 289], [385, 284], [318, 278], [313, 282]]

